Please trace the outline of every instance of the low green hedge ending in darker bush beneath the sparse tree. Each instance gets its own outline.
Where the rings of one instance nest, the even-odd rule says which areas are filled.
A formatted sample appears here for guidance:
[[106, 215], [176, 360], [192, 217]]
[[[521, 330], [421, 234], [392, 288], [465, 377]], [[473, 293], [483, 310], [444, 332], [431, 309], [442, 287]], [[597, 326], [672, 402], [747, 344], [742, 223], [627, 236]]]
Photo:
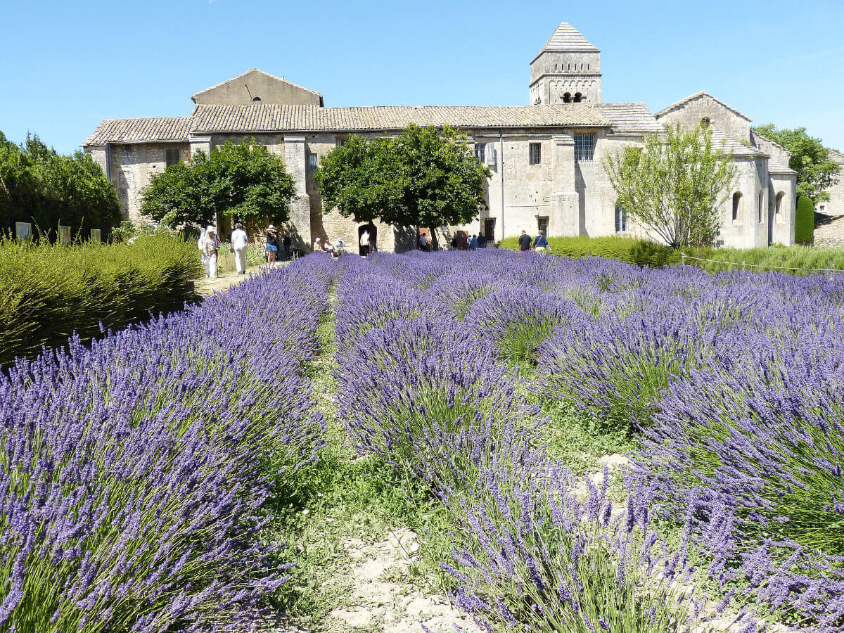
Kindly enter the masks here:
[[[639, 266], [663, 267], [679, 262], [679, 253], [668, 246], [632, 237], [549, 237], [551, 252], [577, 259], [578, 257], [606, 257]], [[502, 248], [518, 250], [518, 238], [500, 241]]]

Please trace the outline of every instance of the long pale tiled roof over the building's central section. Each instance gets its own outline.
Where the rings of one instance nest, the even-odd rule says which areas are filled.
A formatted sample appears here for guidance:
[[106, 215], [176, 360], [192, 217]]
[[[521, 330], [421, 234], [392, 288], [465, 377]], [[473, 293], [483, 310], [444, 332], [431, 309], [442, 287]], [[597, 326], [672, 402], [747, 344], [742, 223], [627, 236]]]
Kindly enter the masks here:
[[193, 110], [193, 133], [399, 130], [419, 126], [457, 128], [609, 127], [587, 104], [558, 106], [211, 106]]

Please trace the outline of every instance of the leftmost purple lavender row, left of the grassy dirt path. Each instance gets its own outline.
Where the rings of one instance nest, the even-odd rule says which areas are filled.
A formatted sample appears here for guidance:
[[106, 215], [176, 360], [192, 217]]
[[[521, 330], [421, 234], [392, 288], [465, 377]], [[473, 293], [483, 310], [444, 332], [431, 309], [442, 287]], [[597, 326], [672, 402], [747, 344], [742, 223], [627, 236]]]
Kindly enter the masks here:
[[313, 460], [331, 272], [273, 270], [0, 377], [0, 631], [238, 630], [285, 580], [262, 506]]

